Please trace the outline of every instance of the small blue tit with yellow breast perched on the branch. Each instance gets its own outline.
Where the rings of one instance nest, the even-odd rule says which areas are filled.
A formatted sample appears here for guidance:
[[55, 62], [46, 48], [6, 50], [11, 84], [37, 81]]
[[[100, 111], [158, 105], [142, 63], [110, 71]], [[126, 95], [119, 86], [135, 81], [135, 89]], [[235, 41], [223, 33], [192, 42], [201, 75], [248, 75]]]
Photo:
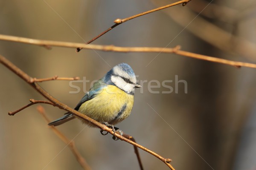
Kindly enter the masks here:
[[[130, 115], [135, 89], [140, 87], [131, 66], [126, 63], [118, 64], [93, 84], [75, 110], [98, 122], [116, 125]], [[65, 113], [48, 125], [61, 125], [74, 118], [76, 116], [72, 113]], [[83, 119], [81, 121], [90, 127], [94, 126]]]

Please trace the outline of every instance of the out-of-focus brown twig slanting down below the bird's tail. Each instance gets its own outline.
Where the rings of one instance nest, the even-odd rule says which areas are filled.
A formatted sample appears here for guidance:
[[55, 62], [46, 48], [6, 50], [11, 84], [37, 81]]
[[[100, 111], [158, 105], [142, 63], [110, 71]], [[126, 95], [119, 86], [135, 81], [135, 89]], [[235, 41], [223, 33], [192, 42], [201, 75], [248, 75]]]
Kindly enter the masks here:
[[[46, 116], [44, 108], [39, 105], [37, 107], [38, 112], [44, 117], [44, 119], [46, 120], [47, 124], [50, 122], [49, 118]], [[65, 143], [68, 145], [68, 147], [70, 148], [70, 150], [72, 151], [72, 153], [74, 154], [74, 156], [76, 157], [76, 160], [79, 162], [79, 164], [81, 165], [81, 167], [84, 168], [84, 170], [90, 170], [90, 166], [87, 164], [87, 162], [85, 161], [85, 159], [81, 156], [81, 154], [79, 153], [79, 151], [76, 148], [75, 142], [74, 141], [70, 141], [70, 139], [67, 139], [67, 137], [61, 133], [56, 127], [54, 126], [49, 126], [52, 131]]]

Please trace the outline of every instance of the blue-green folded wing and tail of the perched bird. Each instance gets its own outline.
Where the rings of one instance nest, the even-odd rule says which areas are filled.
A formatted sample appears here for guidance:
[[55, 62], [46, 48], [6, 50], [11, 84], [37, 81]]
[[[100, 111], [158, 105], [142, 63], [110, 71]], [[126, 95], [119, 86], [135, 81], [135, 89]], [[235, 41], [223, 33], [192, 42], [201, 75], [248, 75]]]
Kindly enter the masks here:
[[[94, 97], [97, 96], [97, 94], [100, 93], [100, 91], [106, 87], [106, 84], [102, 81], [102, 79], [100, 79], [99, 81], [95, 82], [92, 86], [92, 88], [90, 89], [90, 91], [88, 91], [84, 97], [80, 100], [80, 102], [76, 105], [75, 110], [78, 111], [80, 106], [90, 100], [93, 99]], [[76, 118], [72, 113], [65, 113], [64, 116], [60, 117], [59, 119], [56, 119], [53, 122], [50, 122], [48, 125], [53, 125], [53, 126], [58, 126], [61, 125], [65, 122], [68, 122], [72, 119]]]

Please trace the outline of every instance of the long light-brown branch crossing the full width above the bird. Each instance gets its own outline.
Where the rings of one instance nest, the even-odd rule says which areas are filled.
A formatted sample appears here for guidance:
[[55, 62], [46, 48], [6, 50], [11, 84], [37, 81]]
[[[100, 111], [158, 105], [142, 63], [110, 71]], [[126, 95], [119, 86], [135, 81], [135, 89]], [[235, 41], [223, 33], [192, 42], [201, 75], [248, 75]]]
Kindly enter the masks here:
[[[201, 32], [201, 31], [199, 31]], [[214, 37], [214, 35], [212, 35]], [[215, 36], [217, 37], [217, 36]], [[94, 50], [101, 50], [101, 51], [114, 51], [114, 52], [148, 52], [148, 53], [174, 53], [180, 56], [191, 57], [196, 59], [203, 59], [210, 62], [218, 62], [221, 64], [232, 65], [234, 67], [250, 67], [256, 68], [256, 64], [247, 63], [247, 62], [236, 62], [227, 59], [221, 59], [217, 57], [210, 57], [201, 54], [195, 54], [187, 51], [181, 51], [180, 46], [176, 46], [175, 48], [158, 48], [158, 47], [118, 47], [114, 45], [89, 45], [89, 44], [82, 44], [82, 43], [73, 43], [73, 42], [62, 42], [62, 41], [47, 41], [47, 40], [36, 40], [24, 37], [15, 37], [9, 35], [2, 35], [0, 34], [0, 40], [6, 41], [13, 41], [13, 42], [22, 42], [27, 44], [34, 44], [34, 45], [50, 45], [50, 46], [58, 46], [58, 47], [83, 47], [86, 49], [94, 49]], [[216, 42], [217, 43], [217, 42]], [[244, 44], [245, 45], [245, 44]], [[224, 47], [222, 47], [224, 48]], [[242, 47], [240, 47], [242, 48]], [[249, 47], [247, 47], [249, 48]], [[256, 49], [251, 50], [255, 51]], [[249, 51], [247, 51], [249, 52]], [[30, 78], [30, 77], [29, 77]], [[32, 78], [31, 78], [32, 79]]]

